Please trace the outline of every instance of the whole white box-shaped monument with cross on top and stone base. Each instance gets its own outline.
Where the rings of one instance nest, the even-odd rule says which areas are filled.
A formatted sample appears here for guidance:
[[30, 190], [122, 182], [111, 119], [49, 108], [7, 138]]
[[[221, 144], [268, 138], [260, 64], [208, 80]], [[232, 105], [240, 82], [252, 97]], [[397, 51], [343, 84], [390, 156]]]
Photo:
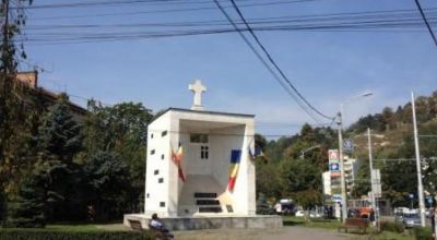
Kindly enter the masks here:
[[191, 109], [168, 108], [149, 124], [144, 227], [156, 213], [170, 229], [281, 227], [256, 216], [255, 116], [205, 111], [197, 80]]

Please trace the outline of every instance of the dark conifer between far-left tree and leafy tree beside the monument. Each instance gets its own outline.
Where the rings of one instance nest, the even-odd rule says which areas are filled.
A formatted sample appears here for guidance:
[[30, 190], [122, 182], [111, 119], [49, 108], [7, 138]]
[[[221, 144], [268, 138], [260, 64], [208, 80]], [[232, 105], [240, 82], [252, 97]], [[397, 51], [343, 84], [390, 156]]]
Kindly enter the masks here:
[[37, 161], [8, 203], [8, 226], [44, 227], [52, 213], [62, 213], [72, 188], [73, 157], [81, 149], [80, 130], [67, 95], [61, 95], [34, 137]]

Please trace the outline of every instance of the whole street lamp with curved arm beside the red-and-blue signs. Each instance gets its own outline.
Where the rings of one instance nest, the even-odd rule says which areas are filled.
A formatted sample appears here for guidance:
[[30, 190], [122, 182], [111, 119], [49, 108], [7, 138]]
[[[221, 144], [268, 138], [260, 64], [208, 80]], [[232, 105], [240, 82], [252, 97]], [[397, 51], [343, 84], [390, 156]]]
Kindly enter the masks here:
[[342, 217], [343, 217], [343, 223], [346, 223], [347, 218], [347, 200], [346, 200], [346, 182], [344, 180], [344, 156], [343, 156], [343, 107], [344, 105], [362, 98], [362, 97], [368, 97], [371, 96], [371, 92], [365, 92], [363, 94], [359, 94], [357, 96], [351, 97], [344, 103], [340, 104], [340, 111], [336, 115], [336, 124], [339, 124], [339, 158], [340, 158], [340, 187], [341, 187], [341, 194], [342, 194]]

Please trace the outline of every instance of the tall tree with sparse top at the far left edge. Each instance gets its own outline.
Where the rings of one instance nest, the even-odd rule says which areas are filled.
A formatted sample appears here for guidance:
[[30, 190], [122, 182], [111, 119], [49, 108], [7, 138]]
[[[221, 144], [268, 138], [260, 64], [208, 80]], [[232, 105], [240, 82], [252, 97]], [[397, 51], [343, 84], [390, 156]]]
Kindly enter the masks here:
[[17, 61], [20, 56], [25, 56], [15, 39], [26, 22], [25, 2], [1, 1], [2, 12], [7, 14], [2, 16], [0, 44], [0, 188], [5, 199], [17, 192], [16, 182], [29, 161], [26, 159], [31, 151], [29, 136], [39, 113], [35, 96], [29, 95], [25, 84], [15, 81]]

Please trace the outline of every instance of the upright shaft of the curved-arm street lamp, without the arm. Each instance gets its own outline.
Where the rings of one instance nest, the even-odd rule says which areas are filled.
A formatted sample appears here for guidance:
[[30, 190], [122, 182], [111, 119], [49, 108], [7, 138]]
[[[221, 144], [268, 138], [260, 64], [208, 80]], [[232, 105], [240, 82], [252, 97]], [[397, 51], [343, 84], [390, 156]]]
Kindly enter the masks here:
[[340, 105], [340, 112], [338, 113], [338, 124], [339, 124], [339, 158], [340, 158], [340, 187], [342, 196], [342, 219], [346, 223], [347, 218], [347, 200], [346, 200], [346, 182], [344, 178], [344, 156], [343, 156], [343, 104]]

